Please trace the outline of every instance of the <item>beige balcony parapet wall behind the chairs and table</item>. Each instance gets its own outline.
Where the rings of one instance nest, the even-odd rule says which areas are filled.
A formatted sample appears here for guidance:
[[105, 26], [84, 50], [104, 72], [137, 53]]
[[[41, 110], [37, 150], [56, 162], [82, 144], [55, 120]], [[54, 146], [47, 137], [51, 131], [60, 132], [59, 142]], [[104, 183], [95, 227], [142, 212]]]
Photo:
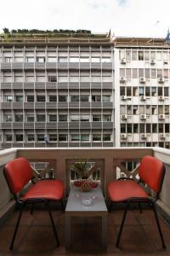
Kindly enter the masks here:
[[137, 170], [128, 172], [122, 162], [139, 161], [144, 155], [154, 155], [166, 166], [166, 175], [157, 205], [161, 213], [170, 220], [170, 150], [165, 148], [10, 148], [2, 150], [0, 152], [0, 217], [14, 205], [3, 177], [3, 165], [8, 160], [25, 156], [29, 161], [49, 162], [54, 168], [54, 177], [65, 182], [65, 195], [68, 195], [70, 186], [69, 165], [76, 158], [92, 160], [96, 163], [95, 168], [99, 169], [101, 186], [107, 197], [107, 184], [116, 179], [118, 168], [127, 177], [136, 177], [138, 174]]

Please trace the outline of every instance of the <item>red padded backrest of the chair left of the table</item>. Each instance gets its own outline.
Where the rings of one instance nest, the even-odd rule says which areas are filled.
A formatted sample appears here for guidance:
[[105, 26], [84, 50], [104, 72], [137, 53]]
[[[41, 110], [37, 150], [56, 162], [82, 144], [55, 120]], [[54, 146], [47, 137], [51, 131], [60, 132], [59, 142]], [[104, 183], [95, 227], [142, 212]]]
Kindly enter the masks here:
[[4, 175], [9, 189], [15, 195], [31, 180], [33, 172], [26, 158], [20, 157], [4, 166]]

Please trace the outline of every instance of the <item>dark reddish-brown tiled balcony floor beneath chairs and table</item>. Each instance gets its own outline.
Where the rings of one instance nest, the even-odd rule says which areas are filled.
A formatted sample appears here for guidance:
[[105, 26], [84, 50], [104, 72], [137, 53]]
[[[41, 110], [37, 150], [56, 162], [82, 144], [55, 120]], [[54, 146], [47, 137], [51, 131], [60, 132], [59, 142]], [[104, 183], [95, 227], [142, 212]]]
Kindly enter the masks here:
[[108, 219], [108, 247], [102, 248], [101, 220], [100, 218], [72, 218], [71, 239], [72, 246], [65, 248], [65, 214], [61, 211], [53, 211], [54, 223], [58, 230], [60, 246], [55, 247], [54, 233], [49, 221], [48, 212], [35, 210], [31, 215], [25, 211], [20, 222], [20, 228], [14, 242], [13, 253], [8, 250], [11, 241], [14, 224], [18, 212], [8, 218], [0, 228], [0, 256], [66, 256], [66, 255], [98, 255], [118, 256], [128, 255], [170, 255], [170, 227], [160, 217], [161, 230], [167, 245], [167, 250], [161, 248], [161, 241], [156, 229], [153, 212], [144, 210], [129, 211], [122, 231], [120, 248], [115, 246], [116, 236], [122, 221], [122, 210], [109, 213]]

